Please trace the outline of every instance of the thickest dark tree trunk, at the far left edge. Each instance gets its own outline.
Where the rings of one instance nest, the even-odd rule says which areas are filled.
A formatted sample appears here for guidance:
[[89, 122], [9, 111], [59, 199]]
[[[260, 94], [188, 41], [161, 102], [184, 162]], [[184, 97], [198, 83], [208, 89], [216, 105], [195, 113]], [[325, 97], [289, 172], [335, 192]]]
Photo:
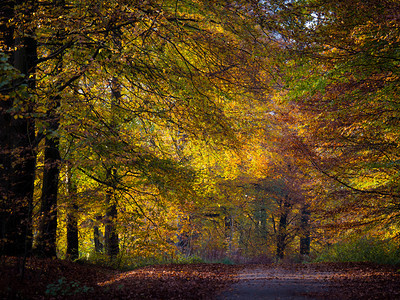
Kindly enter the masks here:
[[[34, 102], [30, 95], [36, 87], [37, 45], [32, 29], [17, 28], [12, 22], [16, 5], [22, 3], [18, 13], [29, 24], [36, 9], [35, 0], [2, 1], [0, 12], [4, 30], [1, 39], [6, 48], [3, 50], [10, 54], [9, 63], [23, 76], [2, 90], [2, 98], [6, 97], [0, 101], [0, 251], [6, 255], [26, 255], [32, 245], [36, 152], [31, 115]], [[22, 84], [27, 85], [28, 93], [16, 93]], [[14, 112], [10, 112], [11, 108]]]

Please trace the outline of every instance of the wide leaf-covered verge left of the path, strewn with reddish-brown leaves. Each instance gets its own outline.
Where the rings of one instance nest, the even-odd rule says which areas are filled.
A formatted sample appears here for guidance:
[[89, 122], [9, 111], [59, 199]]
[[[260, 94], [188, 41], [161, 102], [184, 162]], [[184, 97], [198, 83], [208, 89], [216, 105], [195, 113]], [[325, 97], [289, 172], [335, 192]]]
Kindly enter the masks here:
[[0, 299], [210, 299], [235, 281], [241, 266], [166, 264], [122, 272], [66, 260], [17, 259], [0, 264]]

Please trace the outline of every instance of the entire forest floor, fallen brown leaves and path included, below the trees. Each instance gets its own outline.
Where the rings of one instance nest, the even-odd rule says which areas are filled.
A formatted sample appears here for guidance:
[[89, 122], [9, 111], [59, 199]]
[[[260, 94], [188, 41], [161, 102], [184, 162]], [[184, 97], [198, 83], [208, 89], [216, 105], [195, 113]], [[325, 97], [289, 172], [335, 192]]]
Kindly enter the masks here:
[[400, 299], [400, 273], [370, 263], [159, 265], [123, 272], [0, 259], [0, 299]]

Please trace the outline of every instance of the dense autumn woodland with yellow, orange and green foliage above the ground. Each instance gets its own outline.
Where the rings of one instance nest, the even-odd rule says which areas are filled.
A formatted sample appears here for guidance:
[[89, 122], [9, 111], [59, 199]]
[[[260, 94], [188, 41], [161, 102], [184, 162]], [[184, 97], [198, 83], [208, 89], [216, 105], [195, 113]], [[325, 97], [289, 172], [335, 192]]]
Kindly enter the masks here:
[[399, 1], [0, 7], [2, 256], [400, 259]]

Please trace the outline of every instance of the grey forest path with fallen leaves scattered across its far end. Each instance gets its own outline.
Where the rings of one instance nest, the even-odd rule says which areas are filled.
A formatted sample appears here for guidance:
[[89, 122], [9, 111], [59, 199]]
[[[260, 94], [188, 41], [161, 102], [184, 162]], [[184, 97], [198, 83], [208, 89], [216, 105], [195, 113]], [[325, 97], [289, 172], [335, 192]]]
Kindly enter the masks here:
[[329, 280], [334, 276], [333, 271], [307, 265], [254, 265], [243, 269], [239, 281], [217, 299], [329, 299]]

